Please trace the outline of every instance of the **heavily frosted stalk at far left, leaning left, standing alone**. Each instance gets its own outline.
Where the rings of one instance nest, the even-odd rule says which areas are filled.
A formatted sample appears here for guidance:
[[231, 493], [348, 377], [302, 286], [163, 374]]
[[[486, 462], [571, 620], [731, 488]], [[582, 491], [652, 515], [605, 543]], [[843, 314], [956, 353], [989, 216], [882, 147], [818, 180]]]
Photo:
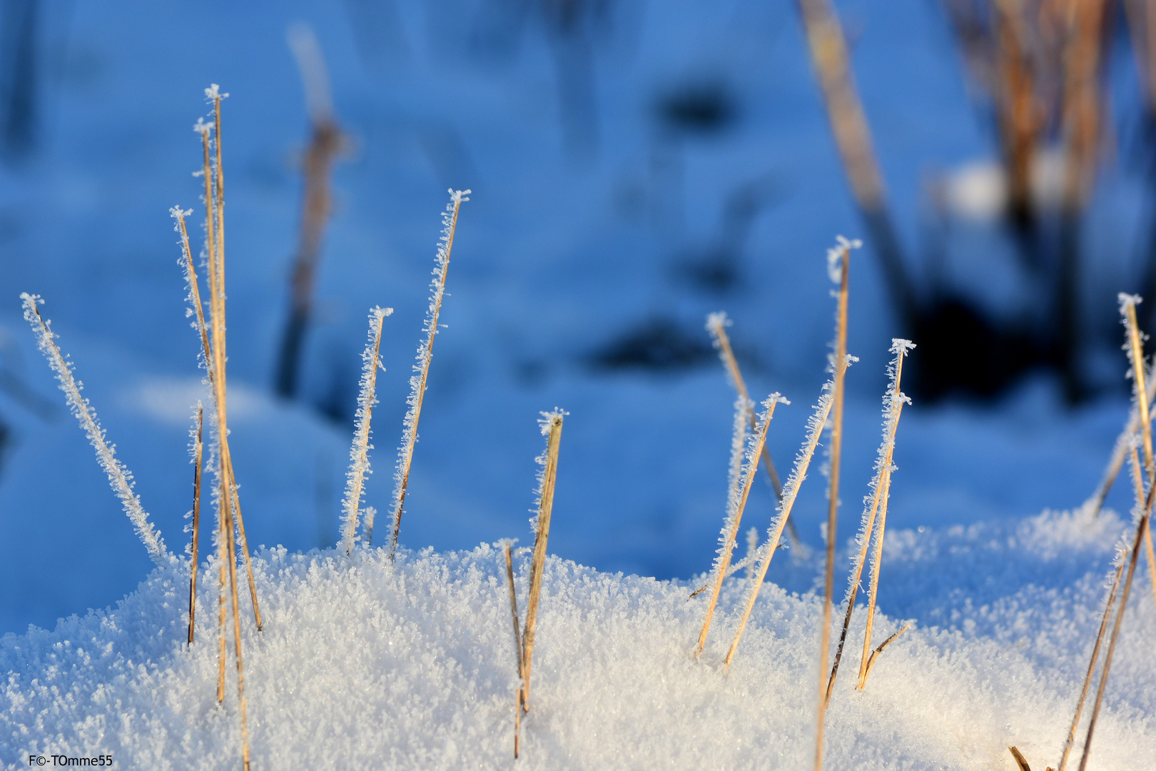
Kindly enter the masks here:
[[148, 512], [141, 506], [140, 496], [133, 492], [132, 473], [117, 459], [116, 448], [105, 439], [104, 429], [101, 428], [96, 412], [88, 403], [88, 399], [84, 399], [80, 394], [84, 386], [73, 376], [72, 362], [60, 353], [60, 348], [55, 342], [55, 334], [52, 332], [51, 321], [45, 321], [40, 317], [38, 306], [44, 301], [38, 295], [29, 295], [28, 292], [21, 292], [20, 298], [24, 304], [24, 320], [32, 326], [32, 332], [36, 335], [36, 344], [45, 358], [49, 359], [49, 365], [57, 373], [57, 380], [60, 383], [60, 390], [65, 392], [68, 409], [72, 410], [72, 414], [80, 422], [92, 448], [96, 450], [96, 460], [101, 464], [104, 473], [109, 475], [109, 484], [112, 487], [113, 492], [117, 494], [117, 497], [120, 498], [128, 520], [133, 524], [136, 535], [148, 550], [148, 556], [157, 566], [163, 568], [169, 565], [172, 557], [164, 548], [161, 534], [153, 527], [153, 522], [148, 520]]

